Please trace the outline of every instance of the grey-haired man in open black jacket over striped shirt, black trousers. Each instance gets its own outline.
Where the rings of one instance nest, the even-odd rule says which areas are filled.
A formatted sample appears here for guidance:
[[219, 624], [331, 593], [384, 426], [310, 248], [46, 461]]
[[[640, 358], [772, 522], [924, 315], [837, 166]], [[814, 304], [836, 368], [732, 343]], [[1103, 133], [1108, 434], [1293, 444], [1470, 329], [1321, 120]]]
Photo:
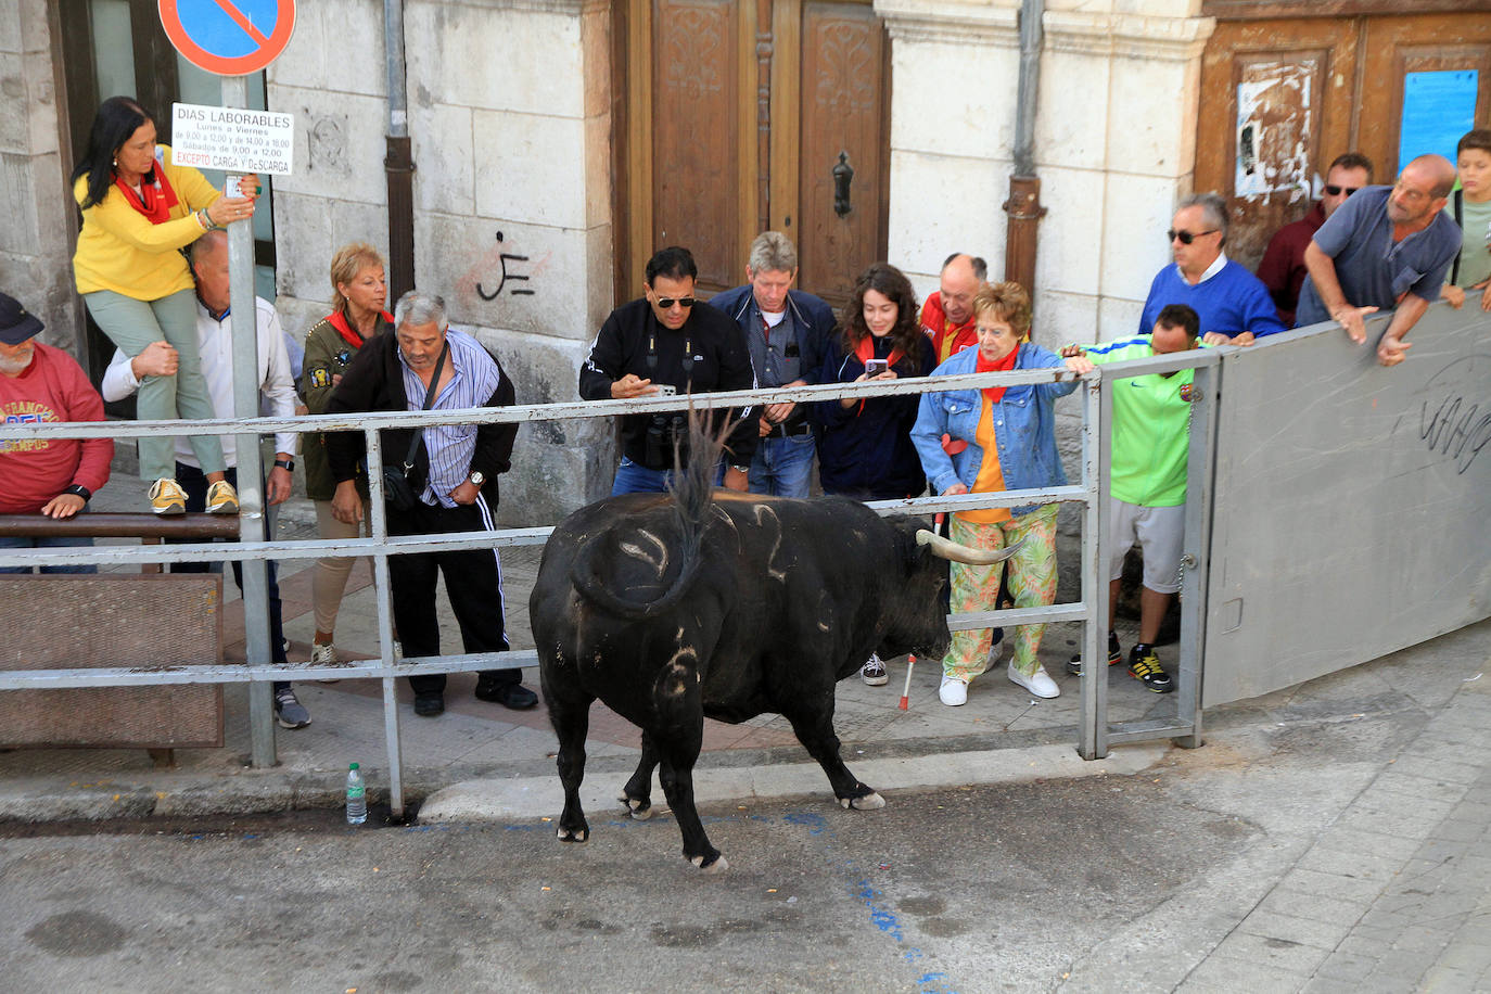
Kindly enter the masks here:
[[[410, 291], [394, 308], [394, 331], [370, 338], [341, 377], [327, 413], [417, 411], [434, 383], [431, 410], [505, 407], [514, 402], [513, 383], [486, 349], [446, 325], [438, 297]], [[495, 525], [497, 475], [511, 465], [517, 425], [429, 425], [422, 429], [413, 466], [406, 471], [417, 499], [409, 510], [388, 507], [389, 535], [438, 535], [491, 531]], [[382, 432], [383, 463], [403, 466], [414, 434], [407, 428]], [[361, 432], [327, 435], [327, 460], [337, 480], [332, 514], [347, 523], [362, 519], [356, 466], [365, 458]], [[435, 615], [435, 572], [446, 575], [446, 593], [461, 623], [467, 653], [508, 648], [502, 623], [502, 572], [495, 548], [391, 556], [388, 572], [394, 623], [410, 657], [440, 654]], [[520, 686], [522, 669], [485, 669], [476, 696], [508, 708], [531, 708], [538, 697]], [[410, 677], [414, 714], [444, 711], [444, 674]]]

